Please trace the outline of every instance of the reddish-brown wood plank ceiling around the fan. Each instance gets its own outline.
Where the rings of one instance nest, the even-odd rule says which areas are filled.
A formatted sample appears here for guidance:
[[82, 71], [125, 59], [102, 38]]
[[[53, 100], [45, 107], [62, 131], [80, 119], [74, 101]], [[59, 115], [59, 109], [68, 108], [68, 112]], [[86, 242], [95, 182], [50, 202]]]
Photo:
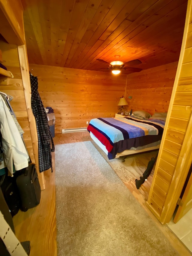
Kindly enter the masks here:
[[96, 59], [143, 69], [179, 60], [187, 0], [21, 2], [29, 63], [108, 72]]

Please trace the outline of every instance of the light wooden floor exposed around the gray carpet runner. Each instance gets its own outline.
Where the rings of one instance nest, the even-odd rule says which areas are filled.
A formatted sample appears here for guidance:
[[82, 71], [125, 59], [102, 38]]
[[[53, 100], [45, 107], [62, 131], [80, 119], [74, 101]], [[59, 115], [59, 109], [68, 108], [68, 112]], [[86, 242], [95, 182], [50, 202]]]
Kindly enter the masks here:
[[[55, 134], [54, 143], [74, 143], [91, 140], [88, 132], [76, 132], [69, 134]], [[92, 141], [92, 140], [91, 140]], [[135, 178], [142, 175], [147, 163], [156, 152], [129, 156], [125, 163], [121, 159], [106, 161], [116, 170], [117, 175], [122, 179], [127, 188], [137, 198], [143, 208], [149, 213], [157, 224], [157, 227], [170, 240], [173, 247], [180, 255], [191, 255], [180, 240], [170, 231], [167, 225], [161, 225], [155, 216], [145, 206], [152, 175], [138, 190], [135, 186]], [[55, 155], [53, 153], [53, 167], [55, 169]], [[29, 240], [31, 242], [30, 256], [57, 256], [56, 245], [56, 213], [55, 213], [55, 172], [45, 171], [46, 189], [41, 191], [41, 203], [27, 212], [19, 212], [13, 217], [16, 236], [19, 241]]]

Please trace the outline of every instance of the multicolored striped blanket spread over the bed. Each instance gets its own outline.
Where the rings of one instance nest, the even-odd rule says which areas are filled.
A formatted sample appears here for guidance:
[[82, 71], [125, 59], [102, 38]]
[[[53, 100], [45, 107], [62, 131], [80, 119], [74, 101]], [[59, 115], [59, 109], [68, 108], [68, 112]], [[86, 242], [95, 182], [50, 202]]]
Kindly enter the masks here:
[[[130, 149], [128, 141], [141, 141], [145, 137], [145, 145], [149, 137], [155, 136], [159, 139], [162, 137], [165, 121], [158, 119], [137, 119], [134, 117], [118, 117], [118, 118], [95, 118], [91, 119], [87, 130], [91, 132], [107, 149], [109, 152], [108, 158], [113, 159], [119, 146], [125, 141], [125, 149]], [[158, 136], [156, 136], [158, 135]], [[137, 139], [138, 138], [138, 139]], [[156, 140], [157, 141], [157, 140]], [[130, 144], [130, 145], [133, 145]], [[143, 145], [141, 145], [143, 146]]]

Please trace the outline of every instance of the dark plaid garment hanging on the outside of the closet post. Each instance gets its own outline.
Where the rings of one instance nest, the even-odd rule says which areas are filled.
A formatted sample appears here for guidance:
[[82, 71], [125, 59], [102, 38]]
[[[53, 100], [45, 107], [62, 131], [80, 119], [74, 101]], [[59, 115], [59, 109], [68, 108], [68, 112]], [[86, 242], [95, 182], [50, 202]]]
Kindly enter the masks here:
[[48, 125], [47, 115], [41, 97], [38, 92], [38, 78], [30, 74], [31, 80], [31, 106], [35, 116], [38, 134], [38, 156], [39, 156], [39, 172], [43, 172], [51, 168], [52, 171], [52, 155], [55, 151], [52, 135]]

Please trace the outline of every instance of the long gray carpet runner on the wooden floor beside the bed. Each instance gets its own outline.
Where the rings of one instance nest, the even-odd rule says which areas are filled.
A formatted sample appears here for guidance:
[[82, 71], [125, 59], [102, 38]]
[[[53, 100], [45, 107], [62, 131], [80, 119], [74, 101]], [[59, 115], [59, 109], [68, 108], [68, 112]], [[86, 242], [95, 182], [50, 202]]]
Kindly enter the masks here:
[[56, 145], [58, 256], [179, 255], [91, 141]]

